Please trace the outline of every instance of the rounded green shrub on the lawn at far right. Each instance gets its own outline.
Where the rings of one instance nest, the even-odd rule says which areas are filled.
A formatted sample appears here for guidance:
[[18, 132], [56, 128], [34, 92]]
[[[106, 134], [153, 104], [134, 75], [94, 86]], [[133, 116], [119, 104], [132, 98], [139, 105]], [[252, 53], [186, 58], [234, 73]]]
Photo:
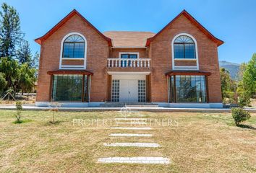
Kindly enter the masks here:
[[241, 107], [233, 107], [231, 110], [232, 110], [232, 117], [234, 118], [236, 126], [239, 125], [241, 122], [248, 120], [249, 117], [251, 117], [249, 115], [249, 112], [242, 109]]

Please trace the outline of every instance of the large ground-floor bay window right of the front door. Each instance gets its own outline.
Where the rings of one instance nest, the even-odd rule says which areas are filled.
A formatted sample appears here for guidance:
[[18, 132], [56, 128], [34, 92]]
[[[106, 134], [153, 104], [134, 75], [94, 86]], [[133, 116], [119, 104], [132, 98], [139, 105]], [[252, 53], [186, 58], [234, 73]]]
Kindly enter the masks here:
[[171, 102], [207, 102], [205, 76], [170, 76]]

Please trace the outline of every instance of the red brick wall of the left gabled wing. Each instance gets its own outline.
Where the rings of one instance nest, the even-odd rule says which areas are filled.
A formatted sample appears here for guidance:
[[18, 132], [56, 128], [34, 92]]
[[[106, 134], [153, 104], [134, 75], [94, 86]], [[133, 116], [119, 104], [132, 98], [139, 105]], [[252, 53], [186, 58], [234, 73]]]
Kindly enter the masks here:
[[74, 15], [41, 44], [37, 102], [47, 102], [49, 99], [51, 77], [46, 73], [59, 69], [61, 40], [70, 32], [81, 33], [88, 43], [87, 70], [94, 73], [91, 82], [90, 101], [100, 102], [107, 98], [108, 43], [80, 17]]

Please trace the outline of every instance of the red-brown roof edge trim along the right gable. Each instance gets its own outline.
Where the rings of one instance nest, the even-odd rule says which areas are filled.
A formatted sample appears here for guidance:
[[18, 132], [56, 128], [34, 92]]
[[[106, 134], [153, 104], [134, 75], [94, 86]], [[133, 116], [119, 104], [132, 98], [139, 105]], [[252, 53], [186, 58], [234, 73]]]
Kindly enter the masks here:
[[192, 15], [190, 15], [186, 10], [183, 10], [178, 16], [176, 16], [173, 20], [171, 20], [171, 22], [169, 22], [165, 27], [163, 27], [161, 31], [159, 31], [153, 37], [148, 38], [146, 46], [149, 46], [150, 43], [155, 39], [155, 37], [161, 34], [161, 32], [163, 32], [163, 30], [165, 30], [166, 27], [168, 27], [169, 25], [172, 25], [176, 21], [176, 19], [178, 19], [182, 15], [184, 15], [184, 17], [187, 17], [187, 19], [189, 19], [189, 21], [192, 22], [192, 24], [198, 27], [199, 30], [201, 30], [205, 35], [207, 35], [210, 38], [210, 40], [213, 40], [213, 42], [215, 42], [218, 46], [224, 43], [222, 40], [219, 40], [218, 38], [214, 37], [208, 30], [205, 29], [205, 27], [203, 27], [199, 22], [197, 22], [197, 20], [194, 17], [192, 17]]

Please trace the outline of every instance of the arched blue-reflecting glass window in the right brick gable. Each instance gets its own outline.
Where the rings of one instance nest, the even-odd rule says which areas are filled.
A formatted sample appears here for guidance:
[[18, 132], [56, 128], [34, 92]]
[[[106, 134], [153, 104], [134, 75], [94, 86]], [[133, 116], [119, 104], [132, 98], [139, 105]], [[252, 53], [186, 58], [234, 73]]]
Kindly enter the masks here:
[[187, 35], [180, 35], [174, 40], [174, 59], [195, 59], [195, 42]]

